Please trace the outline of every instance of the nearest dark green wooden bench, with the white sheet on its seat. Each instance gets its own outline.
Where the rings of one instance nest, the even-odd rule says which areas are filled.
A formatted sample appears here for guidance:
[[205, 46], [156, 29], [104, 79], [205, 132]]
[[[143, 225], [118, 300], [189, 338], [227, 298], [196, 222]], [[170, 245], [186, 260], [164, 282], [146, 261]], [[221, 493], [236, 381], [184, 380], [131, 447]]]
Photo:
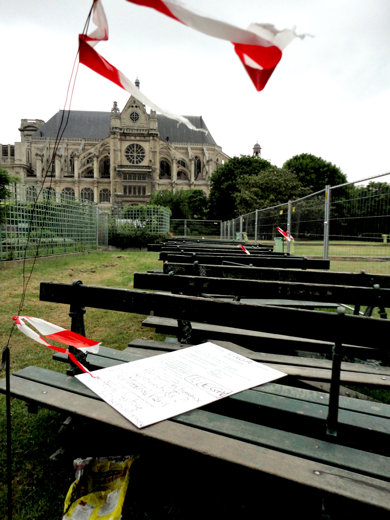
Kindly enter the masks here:
[[[71, 305], [71, 329], [79, 333], [83, 329], [85, 307], [139, 314], [154, 310], [168, 318], [216, 324], [226, 323], [226, 319], [248, 317], [251, 320], [257, 316], [259, 330], [270, 330], [272, 320], [280, 319], [285, 326], [292, 327], [297, 319], [311, 318], [306, 337], [316, 338], [321, 331], [322, 339], [336, 341], [335, 375], [337, 367], [340, 369], [341, 366], [342, 343], [350, 341], [362, 349], [371, 348], [374, 330], [383, 338], [388, 337], [389, 331], [389, 322], [380, 319], [260, 308], [199, 297], [99, 288], [77, 282], [43, 282], [40, 299]], [[264, 321], [258, 319], [259, 311], [264, 314]], [[387, 348], [383, 344], [377, 346]], [[55, 357], [59, 359], [61, 355]], [[83, 362], [93, 369], [140, 357], [144, 354], [137, 356], [101, 347], [97, 356], [87, 355]], [[66, 358], [63, 360], [67, 361]], [[349, 398], [339, 400], [336, 380], [335, 377], [332, 381], [336, 386], [333, 385], [330, 396], [279, 382], [270, 383], [221, 400], [216, 406], [193, 410], [142, 430], [100, 401], [71, 375], [28, 367], [11, 376], [11, 395], [33, 405], [115, 425], [132, 434], [159, 439], [262, 474], [390, 510], [390, 460], [385, 456], [390, 407]], [[1, 381], [3, 393], [4, 387], [4, 381]], [[326, 435], [327, 427], [330, 437]], [[352, 446], [356, 441], [357, 445]]]

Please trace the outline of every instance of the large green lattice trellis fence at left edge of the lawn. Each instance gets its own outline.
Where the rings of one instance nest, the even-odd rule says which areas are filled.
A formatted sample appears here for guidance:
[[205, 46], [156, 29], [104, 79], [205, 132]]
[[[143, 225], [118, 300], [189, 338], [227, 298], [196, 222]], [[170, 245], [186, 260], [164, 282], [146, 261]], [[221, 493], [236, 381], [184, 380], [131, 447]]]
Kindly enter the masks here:
[[15, 184], [0, 205], [0, 260], [97, 249], [97, 204]]

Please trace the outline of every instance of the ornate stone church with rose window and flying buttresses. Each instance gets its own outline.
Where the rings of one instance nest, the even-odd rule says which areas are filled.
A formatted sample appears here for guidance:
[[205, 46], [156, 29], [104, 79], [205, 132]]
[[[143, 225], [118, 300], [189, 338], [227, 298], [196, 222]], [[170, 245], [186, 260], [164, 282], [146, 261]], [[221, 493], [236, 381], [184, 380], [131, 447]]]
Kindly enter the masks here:
[[[229, 157], [202, 116], [186, 117], [207, 133], [148, 113], [133, 96], [122, 111], [114, 101], [111, 112], [60, 110], [46, 123], [22, 119], [21, 141], [0, 145], [0, 166], [29, 185], [31, 199], [50, 177], [58, 194], [99, 205], [147, 204], [154, 190], [171, 188], [202, 189], [208, 195], [212, 173]], [[59, 128], [63, 133], [51, 167]]]

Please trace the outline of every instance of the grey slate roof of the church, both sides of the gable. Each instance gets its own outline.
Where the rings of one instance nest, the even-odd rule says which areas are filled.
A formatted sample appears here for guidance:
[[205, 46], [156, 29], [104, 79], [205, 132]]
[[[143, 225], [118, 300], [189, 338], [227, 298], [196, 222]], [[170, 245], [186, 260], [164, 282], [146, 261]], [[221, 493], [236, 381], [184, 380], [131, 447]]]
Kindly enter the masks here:
[[[62, 110], [59, 110], [53, 118], [49, 119], [39, 128], [32, 137], [56, 137], [61, 124]], [[69, 111], [66, 110], [61, 128], [64, 128]], [[69, 120], [63, 138], [73, 139], [105, 139], [109, 135], [111, 124], [111, 112], [89, 112], [85, 110], [71, 110]], [[208, 131], [202, 116], [187, 115], [186, 118], [197, 128]], [[158, 129], [161, 139], [170, 142], [189, 142], [190, 144], [216, 145], [212, 135], [204, 132], [190, 130], [184, 124], [177, 125], [173, 119], [164, 115], [157, 115]], [[42, 135], [41, 135], [42, 134]]]

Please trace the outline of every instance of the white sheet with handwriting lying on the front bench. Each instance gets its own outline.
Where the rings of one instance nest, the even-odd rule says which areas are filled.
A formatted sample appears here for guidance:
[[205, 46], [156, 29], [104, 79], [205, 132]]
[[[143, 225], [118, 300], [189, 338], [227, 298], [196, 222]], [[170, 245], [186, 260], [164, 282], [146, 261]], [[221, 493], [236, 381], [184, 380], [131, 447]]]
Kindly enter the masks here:
[[286, 375], [213, 343], [93, 374], [75, 377], [138, 428]]

